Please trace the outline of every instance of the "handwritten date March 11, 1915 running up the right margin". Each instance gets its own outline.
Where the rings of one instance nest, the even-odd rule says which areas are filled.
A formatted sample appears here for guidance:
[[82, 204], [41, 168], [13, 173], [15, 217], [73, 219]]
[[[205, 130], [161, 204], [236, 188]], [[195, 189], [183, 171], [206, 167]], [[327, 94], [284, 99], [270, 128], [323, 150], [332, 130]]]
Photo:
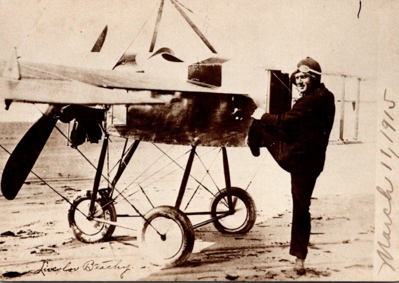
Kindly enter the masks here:
[[[384, 100], [389, 103], [389, 109], [395, 108], [395, 101], [387, 99], [387, 90], [384, 92]], [[394, 117], [387, 111], [384, 110], [384, 113], [386, 115], [386, 118], [382, 120], [382, 125], [385, 130], [381, 130], [380, 132], [387, 138], [387, 141], [389, 142], [389, 145], [393, 144], [394, 141], [392, 139], [392, 135], [395, 134], [396, 128], [394, 127]], [[387, 152], [388, 151], [388, 152]], [[380, 152], [384, 154], [384, 161], [386, 158], [390, 158], [389, 160], [395, 160], [392, 159], [392, 157], [396, 157], [399, 159], [398, 154], [392, 149], [391, 146], [388, 146], [387, 148], [380, 149]], [[397, 160], [396, 160], [397, 161]], [[388, 162], [387, 162], [388, 163]], [[392, 195], [394, 192], [394, 186], [392, 184], [391, 179], [389, 178], [391, 174], [394, 174], [393, 171], [393, 166], [391, 164], [387, 164], [386, 162], [381, 161], [381, 165], [384, 166], [384, 168], [387, 171], [387, 174], [385, 175], [385, 180], [387, 182], [385, 186], [377, 186], [377, 191], [385, 198], [387, 201], [386, 206], [384, 206], [383, 212], [385, 214], [385, 222], [384, 222], [384, 229], [382, 232], [382, 236], [384, 240], [378, 241], [377, 245], [377, 254], [382, 260], [379, 272], [383, 269], [383, 267], [390, 268], [392, 271], [396, 271], [395, 268], [393, 267], [393, 261], [394, 257], [391, 254], [391, 226], [392, 226], [392, 217], [391, 217], [391, 211], [392, 211]], [[397, 174], [397, 173], [396, 173]], [[387, 189], [388, 188], [388, 189]]]

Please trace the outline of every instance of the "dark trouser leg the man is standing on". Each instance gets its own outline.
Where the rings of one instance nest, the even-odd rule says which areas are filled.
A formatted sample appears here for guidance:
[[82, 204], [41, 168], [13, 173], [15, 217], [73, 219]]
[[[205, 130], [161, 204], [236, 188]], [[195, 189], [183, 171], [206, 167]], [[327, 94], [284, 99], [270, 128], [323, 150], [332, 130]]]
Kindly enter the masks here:
[[306, 259], [310, 237], [310, 200], [320, 172], [291, 173], [293, 200], [290, 255]]

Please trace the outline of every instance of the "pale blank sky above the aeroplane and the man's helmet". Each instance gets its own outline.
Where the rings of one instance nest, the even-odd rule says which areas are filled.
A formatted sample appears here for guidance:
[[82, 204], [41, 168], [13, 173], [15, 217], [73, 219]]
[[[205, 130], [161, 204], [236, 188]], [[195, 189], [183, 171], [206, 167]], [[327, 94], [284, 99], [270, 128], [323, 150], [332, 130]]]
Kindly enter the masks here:
[[[0, 58], [16, 46], [21, 59], [108, 66], [132, 41], [132, 52], [148, 51], [159, 2], [0, 0]], [[323, 72], [376, 78], [389, 69], [386, 64], [399, 70], [395, 0], [362, 0], [359, 18], [359, 0], [180, 2], [190, 8], [185, 12], [221, 56], [243, 64], [289, 71], [310, 56]], [[111, 38], [103, 47], [108, 57], [90, 57], [105, 24]], [[169, 0], [155, 48], [160, 47], [193, 63], [209, 52]]]

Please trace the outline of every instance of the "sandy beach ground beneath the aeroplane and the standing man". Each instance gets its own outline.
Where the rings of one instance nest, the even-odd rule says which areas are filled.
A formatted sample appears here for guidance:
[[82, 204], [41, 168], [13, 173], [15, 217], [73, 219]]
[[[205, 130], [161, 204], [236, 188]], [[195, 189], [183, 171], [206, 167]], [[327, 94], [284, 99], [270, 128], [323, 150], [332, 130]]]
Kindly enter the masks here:
[[[65, 125], [60, 125], [65, 130]], [[1, 144], [12, 150], [29, 124], [1, 128]], [[111, 137], [109, 160], [113, 165], [123, 140]], [[177, 158], [190, 148], [163, 145]], [[96, 164], [100, 144], [84, 144], [79, 149]], [[149, 264], [141, 248], [143, 221], [121, 218], [118, 222], [136, 229], [117, 227], [107, 242], [85, 244], [69, 228], [69, 204], [42, 181], [29, 175], [18, 196], [0, 197], [0, 275], [2, 281], [368, 281], [373, 278], [375, 144], [330, 145], [326, 168], [314, 190], [311, 215], [312, 234], [306, 260], [307, 274], [293, 271], [295, 258], [288, 254], [292, 201], [289, 174], [278, 168], [266, 149], [252, 157], [248, 148], [228, 148], [231, 184], [247, 189], [257, 208], [257, 220], [245, 235], [223, 235], [212, 224], [195, 231], [194, 251], [179, 267], [162, 268]], [[195, 160], [193, 176], [217, 191], [224, 188], [221, 154], [218, 149], [200, 148], [199, 156], [212, 179], [204, 175]], [[0, 169], [7, 159], [0, 153]], [[130, 186], [126, 194], [143, 213], [151, 204], [173, 205], [183, 170], [162, 157], [155, 168], [140, 175], [162, 153], [152, 144], [142, 143], [118, 188], [124, 189], [140, 176], [146, 195]], [[179, 159], [185, 165], [187, 155]], [[214, 160], [214, 161], [213, 161]], [[153, 175], [160, 170], [160, 181]], [[107, 167], [106, 167], [107, 168]], [[107, 169], [105, 169], [107, 170]], [[95, 171], [66, 146], [56, 131], [40, 155], [33, 171], [67, 199], [92, 188]], [[206, 172], [205, 172], [206, 173]], [[111, 176], [113, 176], [111, 174]], [[150, 182], [151, 181], [151, 182]], [[154, 182], [157, 181], [157, 182]], [[154, 182], [154, 183], [152, 183]], [[152, 183], [152, 184], [151, 184]], [[150, 184], [150, 185], [148, 185]], [[101, 186], [106, 186], [106, 182]], [[187, 211], [206, 210], [212, 195], [189, 181], [182, 207]], [[132, 213], [123, 201], [115, 205], [119, 213]], [[201, 216], [203, 217], [203, 216]], [[199, 216], [191, 216], [193, 224]], [[206, 218], [207, 216], [205, 216]], [[154, 251], [156, 252], [156, 251]]]

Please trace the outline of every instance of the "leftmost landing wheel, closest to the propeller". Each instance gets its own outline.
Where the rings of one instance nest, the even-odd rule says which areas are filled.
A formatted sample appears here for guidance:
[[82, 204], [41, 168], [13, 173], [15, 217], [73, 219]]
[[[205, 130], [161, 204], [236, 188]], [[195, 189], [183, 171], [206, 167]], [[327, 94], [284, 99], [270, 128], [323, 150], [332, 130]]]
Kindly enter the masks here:
[[[115, 225], [89, 220], [91, 191], [76, 197], [68, 211], [69, 226], [75, 237], [84, 243], [95, 243], [107, 240], [115, 230]], [[116, 210], [108, 198], [96, 199], [93, 217], [106, 221], [116, 221]]]

